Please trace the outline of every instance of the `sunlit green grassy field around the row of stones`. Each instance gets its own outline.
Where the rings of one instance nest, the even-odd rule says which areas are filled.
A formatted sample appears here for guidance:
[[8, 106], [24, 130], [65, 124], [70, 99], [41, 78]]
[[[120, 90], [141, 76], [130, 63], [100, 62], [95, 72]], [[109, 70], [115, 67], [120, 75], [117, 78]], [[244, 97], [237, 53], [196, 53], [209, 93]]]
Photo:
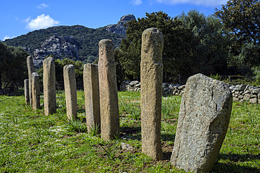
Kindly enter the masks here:
[[[181, 97], [162, 97], [164, 159], [156, 162], [141, 153], [140, 93], [118, 95], [120, 133], [112, 141], [94, 128], [86, 132], [83, 91], [77, 92], [79, 119], [69, 123], [64, 92], [51, 116], [32, 111], [24, 97], [0, 96], [0, 172], [183, 172], [169, 162]], [[259, 125], [259, 104], [233, 103], [213, 172], [260, 172]]]

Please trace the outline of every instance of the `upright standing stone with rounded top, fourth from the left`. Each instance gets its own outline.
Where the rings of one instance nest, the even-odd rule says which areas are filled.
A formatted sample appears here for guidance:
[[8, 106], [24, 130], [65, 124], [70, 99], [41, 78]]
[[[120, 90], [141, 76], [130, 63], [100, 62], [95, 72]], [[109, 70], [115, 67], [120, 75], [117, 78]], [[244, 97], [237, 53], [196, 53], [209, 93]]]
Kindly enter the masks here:
[[56, 113], [56, 78], [53, 57], [47, 57], [44, 67], [44, 113], [46, 116]]

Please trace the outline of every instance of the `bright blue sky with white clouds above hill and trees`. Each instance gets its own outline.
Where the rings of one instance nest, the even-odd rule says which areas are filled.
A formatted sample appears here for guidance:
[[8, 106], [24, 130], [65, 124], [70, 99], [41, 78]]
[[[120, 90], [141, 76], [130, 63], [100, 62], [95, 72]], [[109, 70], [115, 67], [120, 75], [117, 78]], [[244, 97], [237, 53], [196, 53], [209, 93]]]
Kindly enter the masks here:
[[116, 24], [123, 15], [137, 18], [145, 13], [164, 11], [176, 15], [196, 9], [212, 15], [227, 0], [8, 0], [1, 1], [0, 40], [27, 34], [37, 29], [60, 25], [89, 28]]

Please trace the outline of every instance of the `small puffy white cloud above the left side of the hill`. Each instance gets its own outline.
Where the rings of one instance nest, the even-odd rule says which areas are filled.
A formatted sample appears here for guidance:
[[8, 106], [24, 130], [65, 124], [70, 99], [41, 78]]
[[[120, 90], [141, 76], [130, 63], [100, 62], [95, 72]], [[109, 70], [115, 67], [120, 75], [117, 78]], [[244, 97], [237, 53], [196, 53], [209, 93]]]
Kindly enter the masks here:
[[27, 24], [27, 29], [44, 29], [47, 27], [53, 27], [54, 25], [58, 25], [60, 23], [45, 14], [38, 15], [36, 19], [27, 18], [25, 21], [29, 22]]

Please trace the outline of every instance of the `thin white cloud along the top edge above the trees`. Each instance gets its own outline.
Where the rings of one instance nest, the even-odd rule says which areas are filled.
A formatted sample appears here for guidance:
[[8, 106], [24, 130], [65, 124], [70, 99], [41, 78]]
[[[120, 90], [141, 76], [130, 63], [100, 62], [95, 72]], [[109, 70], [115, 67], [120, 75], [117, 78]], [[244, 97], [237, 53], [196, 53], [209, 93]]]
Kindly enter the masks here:
[[226, 4], [228, 0], [156, 0], [160, 4], [195, 4], [202, 6], [219, 6]]

